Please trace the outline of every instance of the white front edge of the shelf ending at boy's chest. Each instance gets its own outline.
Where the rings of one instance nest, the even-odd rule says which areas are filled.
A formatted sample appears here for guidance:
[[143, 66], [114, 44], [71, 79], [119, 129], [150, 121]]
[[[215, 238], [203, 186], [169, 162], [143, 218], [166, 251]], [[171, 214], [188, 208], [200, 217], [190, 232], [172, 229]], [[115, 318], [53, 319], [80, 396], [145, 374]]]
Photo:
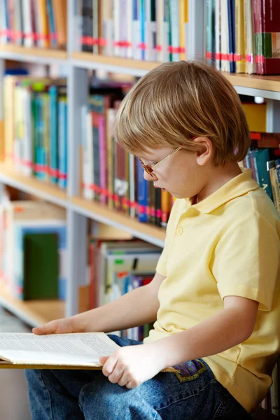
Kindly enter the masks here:
[[104, 216], [100, 216], [99, 214], [95, 214], [93, 211], [83, 209], [83, 207], [80, 207], [77, 204], [73, 204], [70, 202], [69, 206], [76, 213], [82, 214], [83, 216], [86, 216], [94, 221], [105, 223], [106, 225], [113, 226], [113, 228], [125, 230], [126, 232], [129, 232], [130, 234], [132, 234], [134, 237], [143, 239], [144, 241], [147, 241], [150, 244], [160, 246], [161, 248], [165, 246], [165, 241], [162, 241], [161, 239], [157, 239], [151, 235], [146, 235], [145, 233], [142, 233], [140, 230], [130, 228], [129, 226], [123, 225], [123, 223], [118, 223], [116, 221], [113, 221], [112, 219], [106, 218]]

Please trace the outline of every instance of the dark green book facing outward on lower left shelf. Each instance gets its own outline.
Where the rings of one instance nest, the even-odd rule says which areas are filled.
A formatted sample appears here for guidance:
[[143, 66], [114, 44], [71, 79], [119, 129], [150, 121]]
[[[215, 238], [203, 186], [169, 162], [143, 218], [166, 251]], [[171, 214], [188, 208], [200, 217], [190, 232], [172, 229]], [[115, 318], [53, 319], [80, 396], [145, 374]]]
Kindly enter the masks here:
[[24, 239], [24, 300], [57, 299], [59, 277], [58, 237], [30, 233]]

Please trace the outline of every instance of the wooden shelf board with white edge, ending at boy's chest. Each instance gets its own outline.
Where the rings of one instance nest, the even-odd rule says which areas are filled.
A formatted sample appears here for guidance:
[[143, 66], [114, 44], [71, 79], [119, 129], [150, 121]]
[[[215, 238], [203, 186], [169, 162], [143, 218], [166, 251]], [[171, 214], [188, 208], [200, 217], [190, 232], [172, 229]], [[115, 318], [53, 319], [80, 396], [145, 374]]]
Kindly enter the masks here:
[[72, 197], [71, 208], [78, 214], [83, 214], [89, 218], [106, 223], [115, 228], [120, 228], [130, 232], [139, 239], [144, 239], [151, 244], [164, 246], [165, 229], [148, 223], [139, 223], [136, 219], [125, 216], [119, 211], [111, 210], [102, 204], [90, 202], [80, 197]]

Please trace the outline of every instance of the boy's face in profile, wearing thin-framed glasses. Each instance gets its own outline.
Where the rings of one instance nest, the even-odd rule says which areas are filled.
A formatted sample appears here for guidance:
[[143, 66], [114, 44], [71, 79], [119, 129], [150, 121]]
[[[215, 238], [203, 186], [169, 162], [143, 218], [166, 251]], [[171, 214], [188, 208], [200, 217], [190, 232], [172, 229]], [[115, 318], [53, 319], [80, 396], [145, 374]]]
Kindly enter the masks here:
[[[144, 165], [153, 167], [172, 151], [174, 149], [168, 147], [150, 149], [149, 153], [142, 153], [139, 158]], [[200, 153], [181, 149], [168, 160], [160, 162], [151, 174], [144, 171], [144, 178], [147, 181], [153, 181], [155, 188], [167, 190], [174, 197], [194, 197], [203, 190], [207, 183], [209, 165], [206, 165], [206, 163], [209, 162], [211, 157], [211, 152], [210, 155], [209, 152], [208, 146], [207, 150], [202, 147]]]

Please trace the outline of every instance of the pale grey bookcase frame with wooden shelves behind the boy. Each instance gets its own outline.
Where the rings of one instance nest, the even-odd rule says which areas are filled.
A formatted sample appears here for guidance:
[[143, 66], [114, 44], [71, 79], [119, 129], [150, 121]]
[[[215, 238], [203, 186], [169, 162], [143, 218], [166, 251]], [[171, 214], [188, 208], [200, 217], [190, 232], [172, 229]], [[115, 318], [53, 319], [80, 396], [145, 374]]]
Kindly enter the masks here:
[[[80, 197], [79, 141], [82, 130], [81, 109], [87, 103], [88, 70], [102, 69], [109, 72], [144, 76], [158, 66], [158, 62], [137, 61], [119, 57], [107, 57], [82, 52], [77, 47], [76, 0], [68, 0], [68, 41], [66, 51], [24, 48], [16, 45], [0, 45], [0, 76], [5, 71], [5, 60], [44, 65], [63, 66], [67, 74], [68, 92], [68, 184], [66, 192], [54, 186], [17, 174], [5, 164], [0, 165], [0, 199], [3, 185], [8, 184], [43, 200], [66, 209], [68, 272], [65, 302], [18, 302], [10, 299], [0, 289], [0, 305], [8, 307], [31, 325], [44, 323], [50, 318], [71, 316], [78, 312], [78, 289], [85, 279], [87, 257], [87, 218], [123, 228], [135, 237], [155, 245], [164, 246], [165, 230], [153, 225], [139, 223], [125, 214], [112, 211]], [[204, 57], [204, 1], [189, 0], [189, 45], [190, 59]], [[225, 73], [240, 94], [267, 98], [267, 131], [280, 132], [280, 76], [257, 76]], [[0, 121], [3, 119], [3, 104], [0, 100]], [[3, 141], [3, 139], [0, 139]], [[45, 307], [45, 309], [43, 309]], [[19, 309], [20, 308], [20, 309]], [[31, 311], [31, 312], [30, 312]]]

